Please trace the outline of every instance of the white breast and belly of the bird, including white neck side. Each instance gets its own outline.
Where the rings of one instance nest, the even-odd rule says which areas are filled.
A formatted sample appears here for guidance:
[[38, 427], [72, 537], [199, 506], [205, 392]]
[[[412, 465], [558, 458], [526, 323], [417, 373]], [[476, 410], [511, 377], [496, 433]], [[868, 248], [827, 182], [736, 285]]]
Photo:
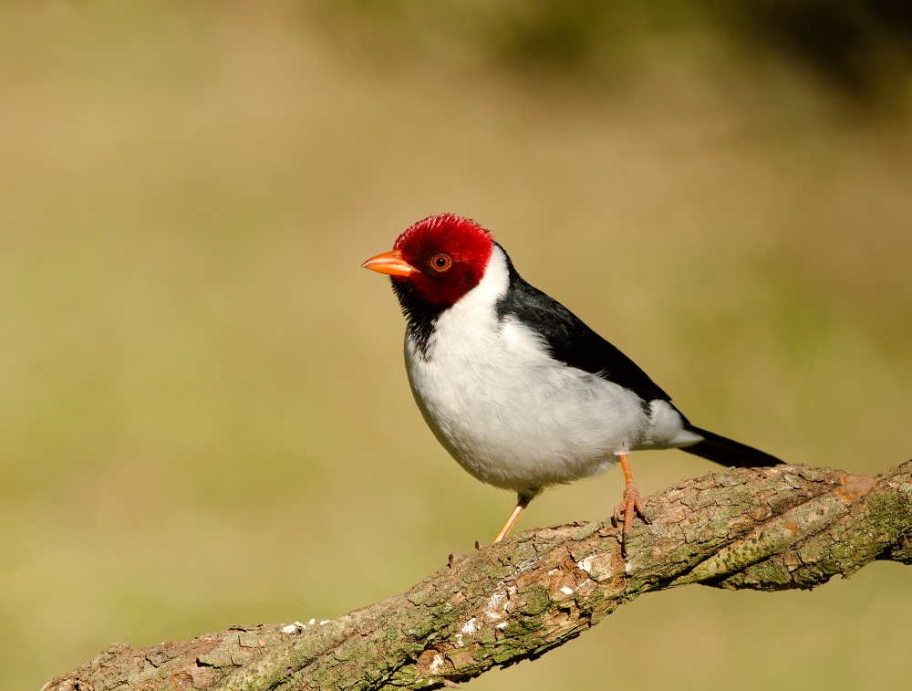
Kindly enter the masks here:
[[406, 367], [421, 413], [462, 467], [533, 495], [605, 470], [649, 436], [638, 396], [554, 361], [516, 319], [498, 319], [508, 285], [494, 248], [478, 286], [440, 315], [424, 354], [407, 337]]

